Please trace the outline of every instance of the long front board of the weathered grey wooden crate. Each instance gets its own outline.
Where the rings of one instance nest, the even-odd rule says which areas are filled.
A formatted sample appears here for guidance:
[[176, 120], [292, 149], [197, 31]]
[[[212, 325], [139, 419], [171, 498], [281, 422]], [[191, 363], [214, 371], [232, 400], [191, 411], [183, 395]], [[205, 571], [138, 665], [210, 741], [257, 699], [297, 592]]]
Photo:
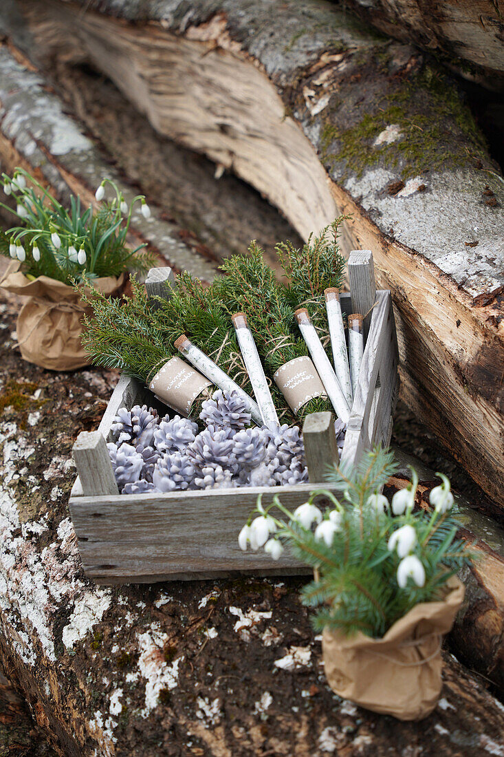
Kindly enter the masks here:
[[[330, 487], [329, 487], [330, 488]], [[284, 488], [241, 488], [170, 494], [72, 497], [70, 514], [86, 573], [101, 583], [163, 580], [264, 569], [306, 572], [291, 556], [272, 561], [263, 550], [242, 552], [238, 533], [263, 495], [266, 506], [278, 494], [294, 509], [312, 484]], [[237, 496], [239, 494], [239, 496]], [[321, 506], [324, 500], [320, 498]], [[218, 513], [218, 516], [216, 516]], [[156, 577], [154, 579], [154, 577]]]

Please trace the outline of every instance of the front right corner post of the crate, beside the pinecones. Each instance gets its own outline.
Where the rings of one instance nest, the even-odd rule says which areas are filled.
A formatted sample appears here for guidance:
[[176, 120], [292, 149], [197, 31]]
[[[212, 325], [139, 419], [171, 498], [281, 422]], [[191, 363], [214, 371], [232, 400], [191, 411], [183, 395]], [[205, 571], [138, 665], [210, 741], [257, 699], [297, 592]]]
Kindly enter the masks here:
[[311, 413], [306, 416], [303, 442], [310, 484], [327, 481], [331, 467], [340, 462], [333, 414]]

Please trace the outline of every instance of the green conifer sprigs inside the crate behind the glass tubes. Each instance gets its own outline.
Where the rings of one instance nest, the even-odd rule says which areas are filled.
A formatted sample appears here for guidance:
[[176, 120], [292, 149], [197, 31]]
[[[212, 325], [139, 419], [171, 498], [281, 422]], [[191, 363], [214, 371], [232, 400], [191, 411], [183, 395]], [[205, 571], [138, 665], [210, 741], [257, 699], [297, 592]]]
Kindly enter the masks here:
[[[253, 241], [247, 255], [235, 255], [222, 263], [224, 276], [217, 276], [210, 286], [187, 272], [179, 274], [170, 299], [155, 298], [155, 308], [134, 280], [133, 297], [122, 302], [108, 301], [93, 292], [87, 301], [94, 317], [86, 319], [84, 345], [94, 363], [120, 368], [148, 384], [157, 369], [175, 354], [173, 342], [185, 333], [252, 395], [231, 320], [233, 313], [243, 311], [263, 360], [278, 417], [281, 422], [292, 423], [294, 416], [272, 376], [289, 360], [308, 354], [294, 318], [294, 310], [300, 305], [310, 307], [328, 342], [324, 288], [341, 286], [344, 273], [336, 241], [339, 223], [341, 219], [310, 238], [302, 250], [296, 250], [290, 242], [278, 245], [286, 284], [278, 282], [263, 260], [263, 251]], [[330, 354], [330, 345], [327, 347]], [[328, 400], [310, 400], [298, 415], [302, 418], [319, 410], [331, 410]]]

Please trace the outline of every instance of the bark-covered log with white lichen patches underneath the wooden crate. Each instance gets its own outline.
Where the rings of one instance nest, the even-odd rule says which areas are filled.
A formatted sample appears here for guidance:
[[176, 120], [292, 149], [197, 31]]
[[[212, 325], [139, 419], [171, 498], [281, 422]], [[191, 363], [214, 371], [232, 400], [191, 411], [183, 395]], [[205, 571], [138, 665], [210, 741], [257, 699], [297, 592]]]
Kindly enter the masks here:
[[[9, 335], [16, 307], [3, 304]], [[114, 375], [48, 376], [8, 338], [4, 403], [9, 380], [23, 402], [0, 419], [0, 662], [61, 755], [499, 753], [502, 705], [449, 653], [427, 721], [401, 723], [334, 696], [296, 579], [89, 582], [67, 512], [70, 450], [95, 428]]]

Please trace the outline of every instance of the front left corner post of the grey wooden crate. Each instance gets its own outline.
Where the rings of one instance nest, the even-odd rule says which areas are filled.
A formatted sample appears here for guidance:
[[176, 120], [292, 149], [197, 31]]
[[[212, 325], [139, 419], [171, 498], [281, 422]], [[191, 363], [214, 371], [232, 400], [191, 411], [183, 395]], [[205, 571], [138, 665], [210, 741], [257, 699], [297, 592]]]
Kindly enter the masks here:
[[86, 497], [118, 495], [114, 469], [100, 431], [81, 431], [73, 445], [73, 459]]

